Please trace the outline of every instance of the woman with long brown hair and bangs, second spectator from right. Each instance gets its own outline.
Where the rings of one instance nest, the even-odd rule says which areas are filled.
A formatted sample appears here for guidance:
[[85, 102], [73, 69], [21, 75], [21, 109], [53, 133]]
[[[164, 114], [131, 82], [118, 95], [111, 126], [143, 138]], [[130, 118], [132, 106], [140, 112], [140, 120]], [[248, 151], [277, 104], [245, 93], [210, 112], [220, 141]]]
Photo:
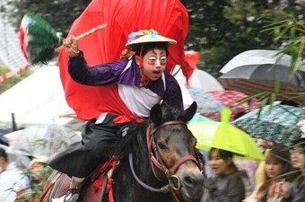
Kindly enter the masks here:
[[278, 182], [291, 180], [291, 175], [285, 175], [285, 173], [292, 171], [289, 156], [289, 150], [286, 147], [274, 147], [269, 150], [266, 154], [264, 180], [257, 185], [251, 196], [244, 201], [283, 201], [284, 198], [279, 193]]

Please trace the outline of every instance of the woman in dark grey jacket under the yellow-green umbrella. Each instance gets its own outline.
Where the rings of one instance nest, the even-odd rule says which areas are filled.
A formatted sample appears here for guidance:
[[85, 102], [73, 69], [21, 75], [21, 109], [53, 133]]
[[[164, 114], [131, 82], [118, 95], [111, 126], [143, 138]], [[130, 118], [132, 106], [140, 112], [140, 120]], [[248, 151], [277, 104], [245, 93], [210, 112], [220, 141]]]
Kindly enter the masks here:
[[245, 186], [233, 162], [233, 154], [222, 149], [212, 148], [209, 164], [215, 177], [205, 183], [203, 202], [241, 202], [245, 198]]

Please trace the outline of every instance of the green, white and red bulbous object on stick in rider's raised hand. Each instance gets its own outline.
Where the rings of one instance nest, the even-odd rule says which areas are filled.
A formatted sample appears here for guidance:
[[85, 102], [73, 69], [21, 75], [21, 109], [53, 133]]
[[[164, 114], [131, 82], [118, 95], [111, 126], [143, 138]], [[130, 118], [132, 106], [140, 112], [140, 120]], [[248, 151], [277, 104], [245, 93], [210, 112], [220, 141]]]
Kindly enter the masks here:
[[[107, 27], [108, 24], [101, 24], [92, 30], [76, 37], [80, 40], [83, 37]], [[26, 13], [22, 18], [19, 29], [22, 53], [30, 65], [46, 65], [55, 57], [62, 46], [62, 34], [35, 13]]]

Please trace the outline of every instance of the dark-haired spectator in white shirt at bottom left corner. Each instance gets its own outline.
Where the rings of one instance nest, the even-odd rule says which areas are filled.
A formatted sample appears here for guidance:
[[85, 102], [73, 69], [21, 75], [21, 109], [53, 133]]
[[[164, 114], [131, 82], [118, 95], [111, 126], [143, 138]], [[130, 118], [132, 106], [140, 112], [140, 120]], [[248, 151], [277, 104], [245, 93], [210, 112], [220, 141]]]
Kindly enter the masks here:
[[17, 168], [15, 162], [8, 161], [5, 150], [0, 147], [0, 202], [23, 198], [29, 189], [29, 178]]

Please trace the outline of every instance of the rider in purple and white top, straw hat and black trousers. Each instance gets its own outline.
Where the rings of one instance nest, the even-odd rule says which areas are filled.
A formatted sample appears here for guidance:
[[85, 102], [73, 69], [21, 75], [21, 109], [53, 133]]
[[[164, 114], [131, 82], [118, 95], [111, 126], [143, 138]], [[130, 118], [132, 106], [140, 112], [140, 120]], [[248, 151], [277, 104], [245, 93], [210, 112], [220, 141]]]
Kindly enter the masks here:
[[120, 128], [148, 118], [153, 105], [161, 101], [183, 110], [179, 83], [165, 72], [168, 47], [175, 43], [176, 40], [163, 37], [157, 31], [132, 32], [125, 57], [88, 66], [74, 36], [64, 40], [69, 52], [68, 72], [74, 81], [109, 86], [105, 92], [108, 104], [100, 117], [91, 119], [83, 127], [83, 140], [70, 145], [49, 162], [53, 169], [72, 178], [68, 192], [75, 193], [84, 178], [108, 160], [106, 153], [118, 140]]

